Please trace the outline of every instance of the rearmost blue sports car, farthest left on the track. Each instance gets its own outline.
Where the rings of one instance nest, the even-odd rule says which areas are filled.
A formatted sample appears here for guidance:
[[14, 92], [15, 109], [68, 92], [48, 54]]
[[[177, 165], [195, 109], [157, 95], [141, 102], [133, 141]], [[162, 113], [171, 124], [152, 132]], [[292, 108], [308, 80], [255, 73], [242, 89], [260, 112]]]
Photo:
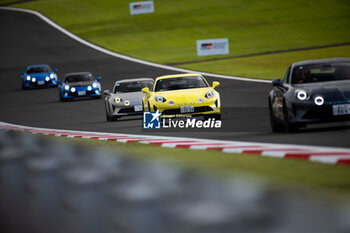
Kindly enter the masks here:
[[57, 86], [56, 72], [57, 69], [52, 70], [49, 65], [28, 66], [21, 72], [22, 89]]

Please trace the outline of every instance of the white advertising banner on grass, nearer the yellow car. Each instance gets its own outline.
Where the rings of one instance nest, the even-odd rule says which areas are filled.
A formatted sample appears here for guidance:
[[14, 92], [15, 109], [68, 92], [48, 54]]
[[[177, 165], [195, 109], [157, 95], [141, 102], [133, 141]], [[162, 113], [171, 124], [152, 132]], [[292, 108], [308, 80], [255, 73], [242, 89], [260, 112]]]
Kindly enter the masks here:
[[197, 55], [229, 54], [228, 39], [197, 40]]

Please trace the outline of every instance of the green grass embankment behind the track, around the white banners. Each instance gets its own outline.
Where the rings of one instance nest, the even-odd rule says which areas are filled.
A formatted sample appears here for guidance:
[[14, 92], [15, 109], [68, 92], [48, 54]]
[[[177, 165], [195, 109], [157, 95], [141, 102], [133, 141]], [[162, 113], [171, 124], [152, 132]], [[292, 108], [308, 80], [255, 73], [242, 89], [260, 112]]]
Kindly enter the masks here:
[[[157, 63], [198, 61], [195, 42], [228, 38], [230, 55], [350, 42], [350, 2], [343, 0], [157, 0], [155, 13], [130, 15], [129, 1], [38, 0], [38, 10], [74, 34], [110, 50]], [[252, 78], [282, 77], [305, 59], [349, 57], [350, 47], [228, 59], [182, 67]], [[226, 56], [227, 57], [227, 56]]]

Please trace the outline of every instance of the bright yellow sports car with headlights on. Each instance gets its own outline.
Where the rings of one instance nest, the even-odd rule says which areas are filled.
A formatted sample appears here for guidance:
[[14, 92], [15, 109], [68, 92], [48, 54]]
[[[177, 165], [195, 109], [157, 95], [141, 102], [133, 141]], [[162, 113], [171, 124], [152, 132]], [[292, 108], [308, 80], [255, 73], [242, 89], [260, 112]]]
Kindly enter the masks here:
[[144, 111], [159, 110], [162, 117], [204, 115], [205, 119], [221, 119], [219, 82], [209, 86], [200, 74], [177, 74], [158, 77], [153, 90], [142, 89]]

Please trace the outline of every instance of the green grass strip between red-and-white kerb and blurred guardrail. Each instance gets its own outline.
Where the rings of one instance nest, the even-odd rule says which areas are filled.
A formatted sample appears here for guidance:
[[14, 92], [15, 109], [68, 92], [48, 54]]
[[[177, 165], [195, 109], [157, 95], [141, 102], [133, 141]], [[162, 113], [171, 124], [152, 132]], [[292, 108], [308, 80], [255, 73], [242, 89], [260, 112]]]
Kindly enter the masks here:
[[350, 198], [350, 168], [295, 159], [279, 159], [257, 155], [222, 153], [189, 149], [171, 149], [145, 144], [125, 144], [93, 139], [50, 137], [83, 146], [96, 146], [114, 152], [126, 152], [137, 159], [163, 159], [187, 168], [216, 175], [244, 173], [265, 178], [272, 183], [312, 193]]

